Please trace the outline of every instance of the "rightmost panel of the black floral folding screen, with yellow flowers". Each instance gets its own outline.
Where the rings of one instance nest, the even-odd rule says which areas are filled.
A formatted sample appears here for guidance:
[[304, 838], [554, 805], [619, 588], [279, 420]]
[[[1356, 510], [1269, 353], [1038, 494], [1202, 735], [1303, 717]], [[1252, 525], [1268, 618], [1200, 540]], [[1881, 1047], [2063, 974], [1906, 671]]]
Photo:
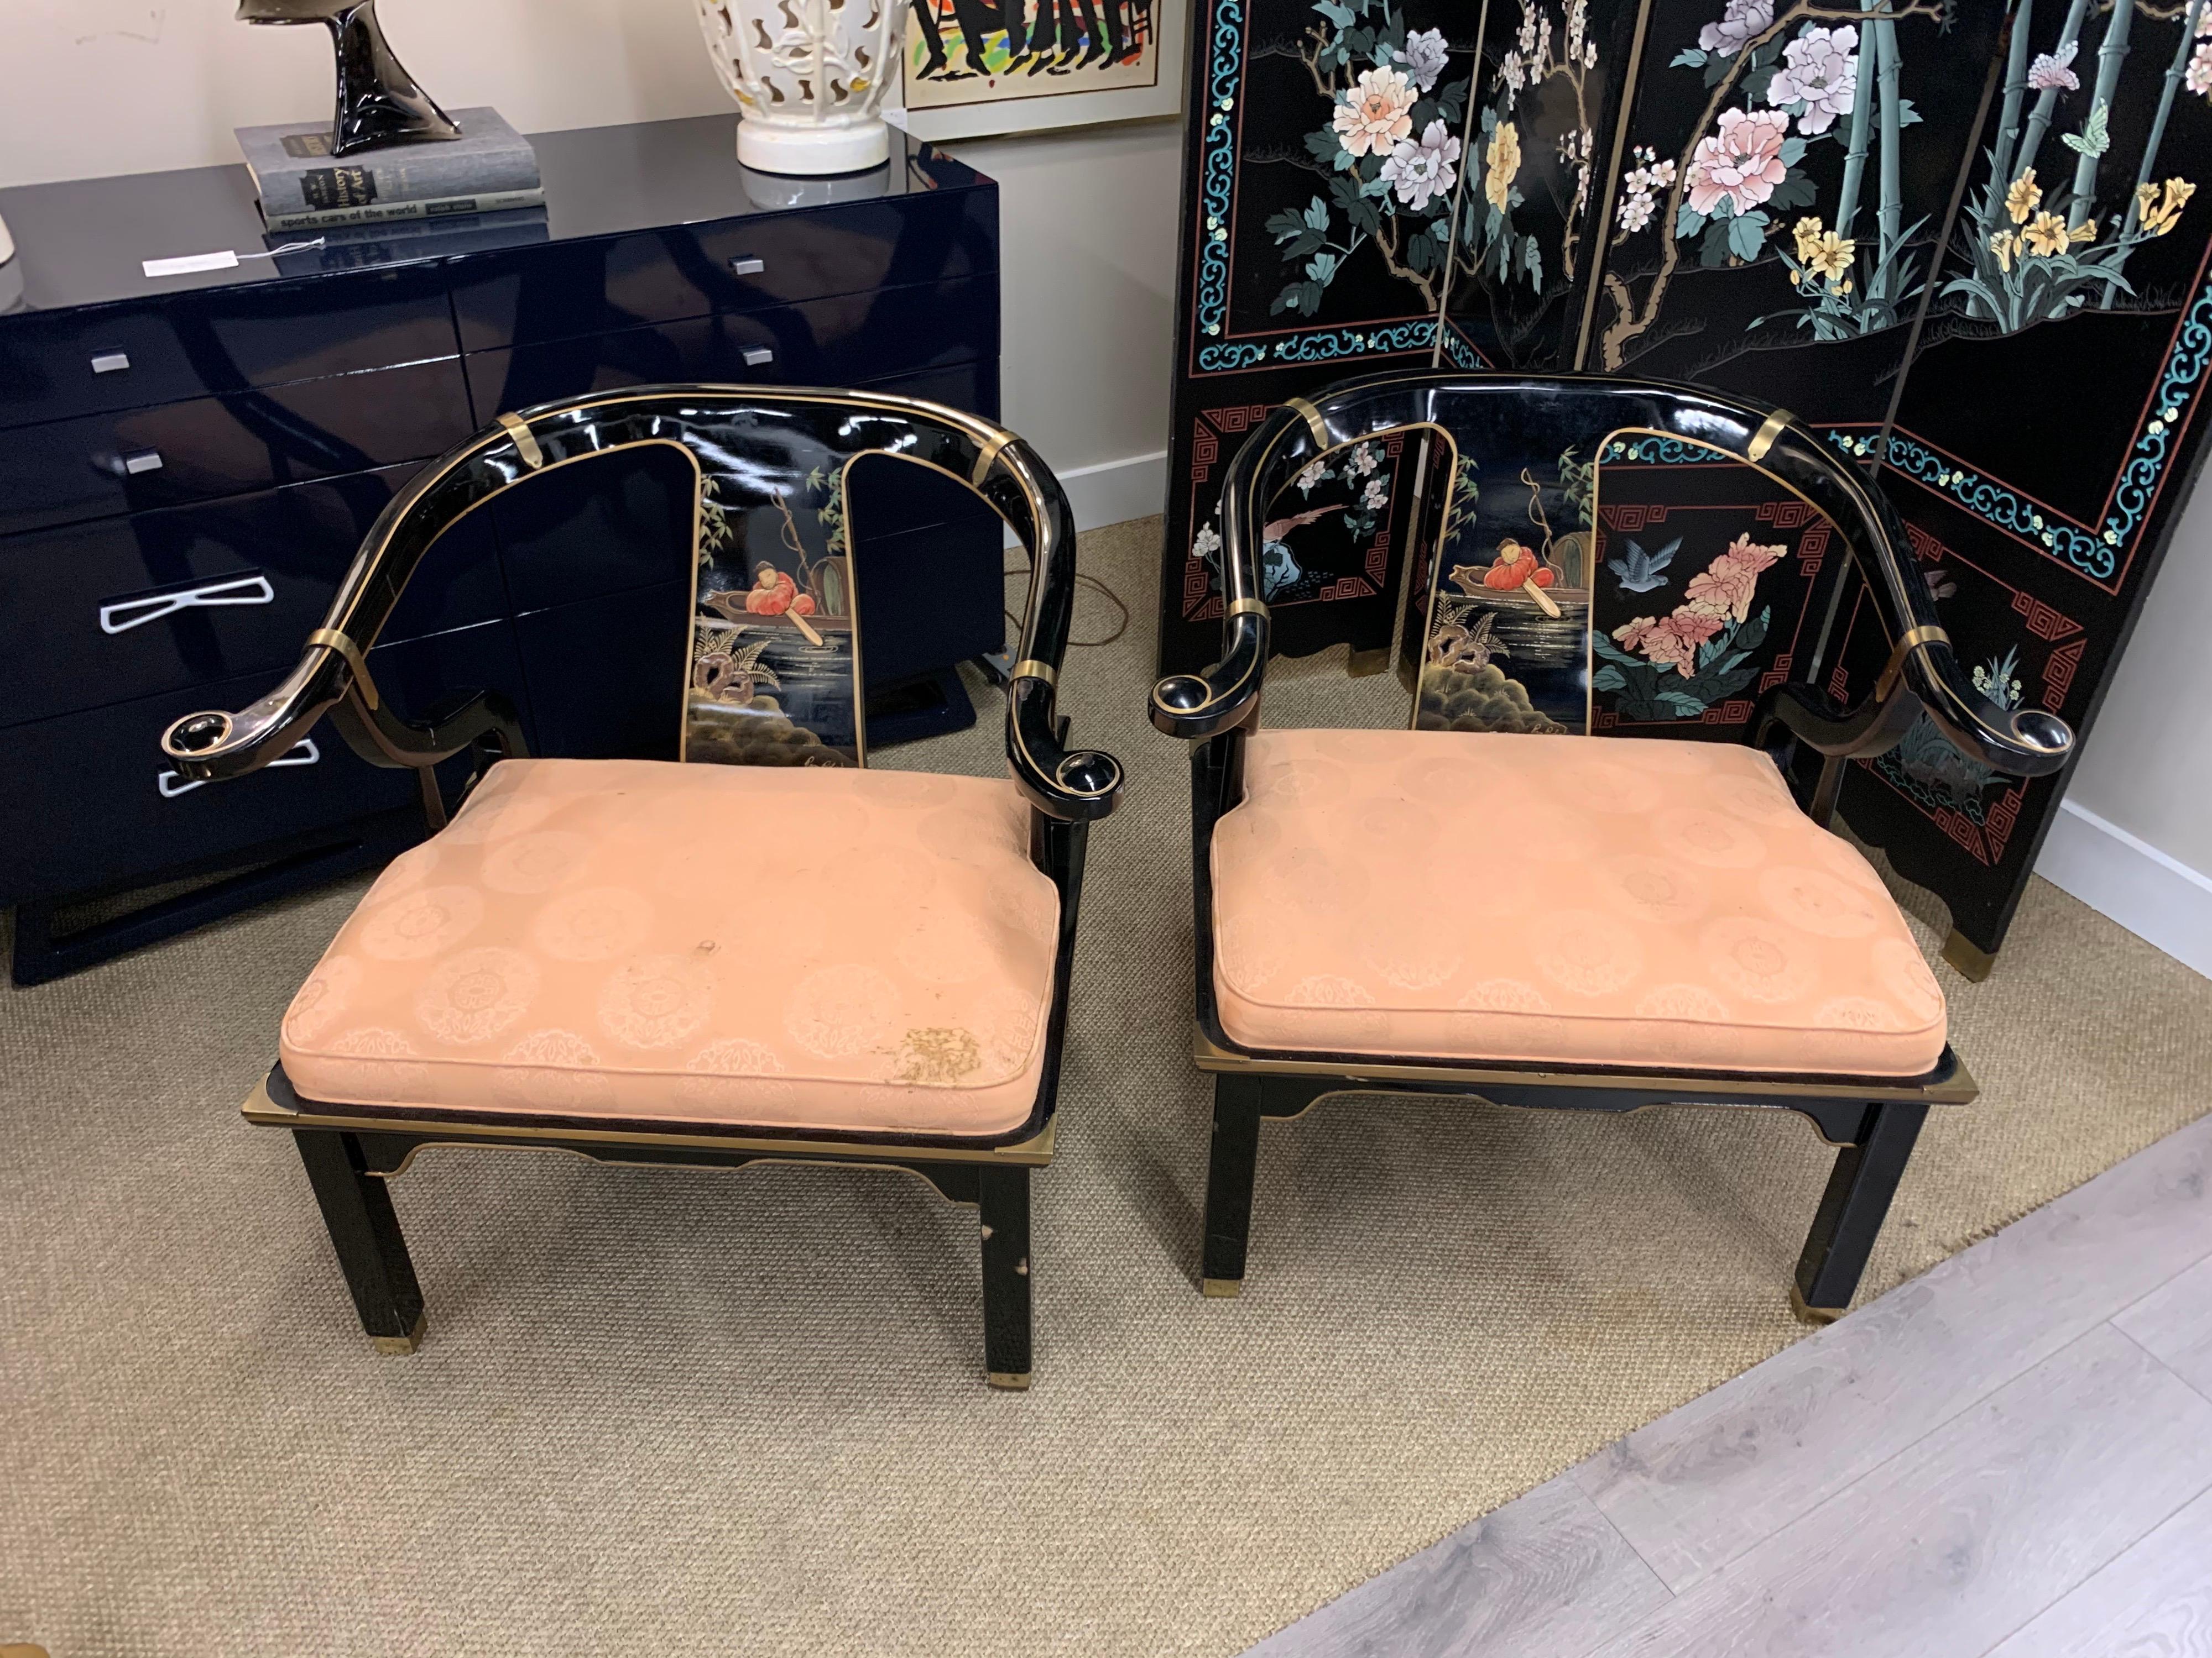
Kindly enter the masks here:
[[[2090, 725], [2203, 449], [2212, 7], [2026, 0], [1975, 144], [1882, 486], [1993, 701]], [[1887, 646], [1847, 619], [1834, 685]], [[1843, 811], [1995, 951], [2059, 780], [1995, 778], [1922, 723]]]

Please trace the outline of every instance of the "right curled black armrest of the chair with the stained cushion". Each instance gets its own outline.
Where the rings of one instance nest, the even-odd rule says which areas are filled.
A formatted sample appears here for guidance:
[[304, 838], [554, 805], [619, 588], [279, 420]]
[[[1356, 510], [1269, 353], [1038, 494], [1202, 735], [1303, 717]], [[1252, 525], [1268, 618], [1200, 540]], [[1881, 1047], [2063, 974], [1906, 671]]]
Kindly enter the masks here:
[[1099, 749], [1071, 749], [1057, 705], [1075, 621], [1075, 513], [1060, 480], [1013, 433], [1000, 436], [982, 473], [982, 497], [1029, 553], [1022, 654], [1006, 679], [1006, 769], [1046, 818], [1097, 822], [1121, 802], [1121, 763]]

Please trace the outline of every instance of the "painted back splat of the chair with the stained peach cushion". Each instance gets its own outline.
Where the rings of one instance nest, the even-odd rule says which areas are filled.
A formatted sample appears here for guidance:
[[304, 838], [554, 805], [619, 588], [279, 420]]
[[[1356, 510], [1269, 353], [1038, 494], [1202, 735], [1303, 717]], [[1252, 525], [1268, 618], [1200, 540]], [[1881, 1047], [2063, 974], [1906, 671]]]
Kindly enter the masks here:
[[807, 473], [796, 511], [781, 493], [754, 508], [723, 493], [726, 480], [701, 478], [684, 758], [860, 765], [860, 632], [841, 475]]

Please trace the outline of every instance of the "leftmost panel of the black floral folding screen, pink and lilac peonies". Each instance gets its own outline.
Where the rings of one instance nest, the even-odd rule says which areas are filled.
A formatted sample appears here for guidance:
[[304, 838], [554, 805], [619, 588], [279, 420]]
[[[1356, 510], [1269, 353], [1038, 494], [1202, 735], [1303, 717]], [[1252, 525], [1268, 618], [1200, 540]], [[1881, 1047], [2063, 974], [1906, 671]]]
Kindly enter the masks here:
[[[1285, 396], [1433, 360], [1482, 7], [1201, 0], [1159, 657], [1221, 632], [1221, 471]], [[1281, 650], [1389, 650], [1422, 447], [1363, 444], [1265, 524]]]

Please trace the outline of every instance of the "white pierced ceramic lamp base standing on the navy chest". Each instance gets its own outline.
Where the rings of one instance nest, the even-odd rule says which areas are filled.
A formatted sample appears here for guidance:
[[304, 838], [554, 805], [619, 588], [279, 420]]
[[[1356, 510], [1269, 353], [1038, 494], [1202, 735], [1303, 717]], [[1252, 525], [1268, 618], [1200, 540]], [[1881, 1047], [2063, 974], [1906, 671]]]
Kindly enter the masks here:
[[737, 159], [757, 172], [860, 172], [891, 135], [907, 0], [697, 0], [714, 73], [737, 99]]

